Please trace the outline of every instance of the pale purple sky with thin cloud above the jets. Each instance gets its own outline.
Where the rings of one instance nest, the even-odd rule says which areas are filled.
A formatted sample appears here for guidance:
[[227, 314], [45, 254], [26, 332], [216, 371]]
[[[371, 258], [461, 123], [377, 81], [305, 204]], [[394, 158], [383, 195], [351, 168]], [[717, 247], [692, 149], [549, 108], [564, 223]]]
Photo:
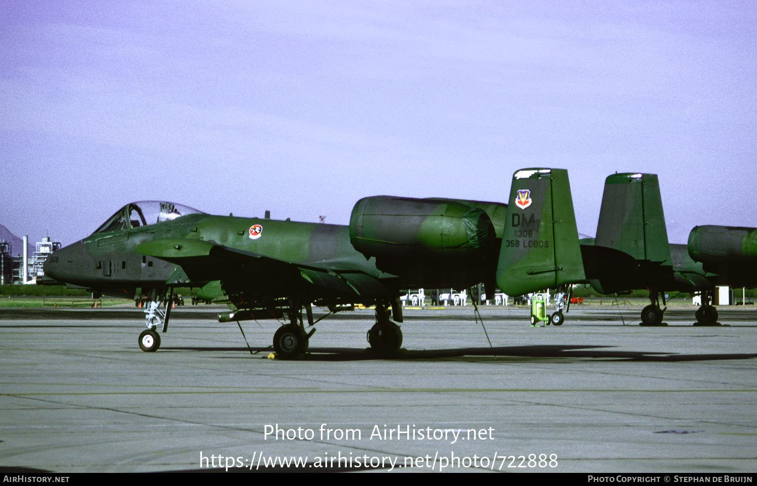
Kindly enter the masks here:
[[505, 202], [659, 174], [668, 234], [757, 226], [754, 2], [0, 2], [0, 224], [134, 200], [347, 224], [360, 197]]

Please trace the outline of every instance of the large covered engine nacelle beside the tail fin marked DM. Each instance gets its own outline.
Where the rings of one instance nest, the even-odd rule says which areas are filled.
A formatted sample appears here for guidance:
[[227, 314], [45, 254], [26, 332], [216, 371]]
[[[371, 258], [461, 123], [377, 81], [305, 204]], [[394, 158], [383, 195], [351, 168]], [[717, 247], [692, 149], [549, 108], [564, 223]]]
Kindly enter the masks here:
[[350, 241], [366, 257], [484, 258], [496, 241], [483, 209], [456, 200], [364, 197], [352, 209]]

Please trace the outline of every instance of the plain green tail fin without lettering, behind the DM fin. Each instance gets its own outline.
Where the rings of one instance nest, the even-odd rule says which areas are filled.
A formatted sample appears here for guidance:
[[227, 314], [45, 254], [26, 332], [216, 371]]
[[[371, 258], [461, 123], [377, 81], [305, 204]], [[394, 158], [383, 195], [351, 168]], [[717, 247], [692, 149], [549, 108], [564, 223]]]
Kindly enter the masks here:
[[612, 174], [605, 179], [594, 245], [672, 265], [657, 175]]

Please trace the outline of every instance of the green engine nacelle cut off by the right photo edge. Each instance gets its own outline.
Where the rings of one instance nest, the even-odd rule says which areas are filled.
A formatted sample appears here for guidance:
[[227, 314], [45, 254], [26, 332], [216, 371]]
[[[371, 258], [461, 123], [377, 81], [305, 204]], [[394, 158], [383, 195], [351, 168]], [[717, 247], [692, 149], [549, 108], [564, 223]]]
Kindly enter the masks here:
[[757, 228], [695, 226], [688, 249], [695, 262], [757, 262]]

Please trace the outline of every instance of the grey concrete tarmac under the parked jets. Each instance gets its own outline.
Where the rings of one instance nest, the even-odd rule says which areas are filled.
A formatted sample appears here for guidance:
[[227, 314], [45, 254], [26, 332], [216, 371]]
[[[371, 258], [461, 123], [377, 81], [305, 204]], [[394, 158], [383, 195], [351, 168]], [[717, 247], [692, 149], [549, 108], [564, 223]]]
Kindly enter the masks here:
[[270, 320], [241, 323], [251, 354], [223, 308], [177, 308], [155, 353], [138, 309], [0, 309], [0, 468], [755, 472], [757, 311], [606, 307], [481, 308], [491, 346], [472, 307], [406, 310], [393, 358], [344, 312], [298, 361], [266, 358]]

